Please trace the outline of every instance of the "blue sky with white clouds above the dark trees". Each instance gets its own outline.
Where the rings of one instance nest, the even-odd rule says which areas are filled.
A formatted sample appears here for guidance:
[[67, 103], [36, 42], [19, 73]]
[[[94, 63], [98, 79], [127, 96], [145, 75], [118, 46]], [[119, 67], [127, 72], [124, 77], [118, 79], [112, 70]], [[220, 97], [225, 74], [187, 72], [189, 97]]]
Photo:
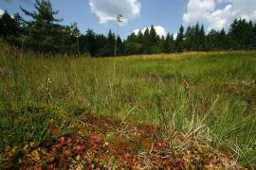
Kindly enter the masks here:
[[[21, 12], [20, 6], [31, 10], [34, 0], [0, 0], [0, 15], [4, 9], [10, 14]], [[77, 22], [84, 33], [92, 28], [106, 34], [109, 29], [118, 31], [122, 38], [138, 29], [154, 25], [159, 35], [176, 33], [180, 25], [197, 22], [206, 30], [229, 29], [235, 18], [256, 23], [256, 0], [51, 0], [59, 9], [64, 24]], [[123, 15], [118, 25], [116, 16]]]

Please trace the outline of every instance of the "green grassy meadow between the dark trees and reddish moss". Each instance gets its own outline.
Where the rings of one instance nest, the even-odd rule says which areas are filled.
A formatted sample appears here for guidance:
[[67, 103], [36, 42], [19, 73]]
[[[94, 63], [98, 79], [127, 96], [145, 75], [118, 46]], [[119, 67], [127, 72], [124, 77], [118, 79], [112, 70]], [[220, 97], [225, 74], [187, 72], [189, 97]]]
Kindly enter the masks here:
[[[54, 137], [86, 112], [161, 127], [256, 164], [256, 52], [92, 59], [0, 44], [0, 161], [7, 147]], [[40, 111], [38, 111], [40, 110]], [[63, 121], [65, 119], [65, 121]]]

